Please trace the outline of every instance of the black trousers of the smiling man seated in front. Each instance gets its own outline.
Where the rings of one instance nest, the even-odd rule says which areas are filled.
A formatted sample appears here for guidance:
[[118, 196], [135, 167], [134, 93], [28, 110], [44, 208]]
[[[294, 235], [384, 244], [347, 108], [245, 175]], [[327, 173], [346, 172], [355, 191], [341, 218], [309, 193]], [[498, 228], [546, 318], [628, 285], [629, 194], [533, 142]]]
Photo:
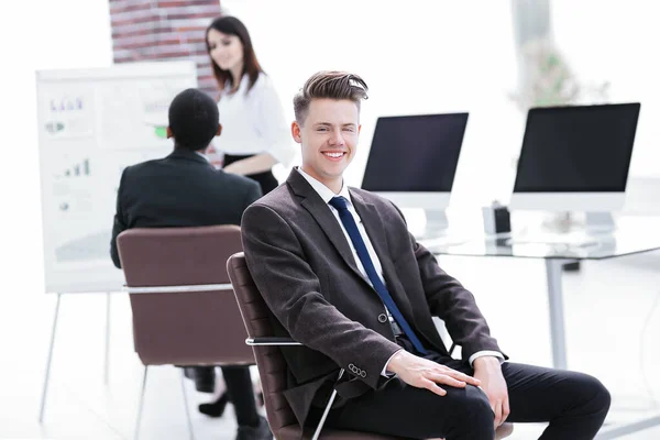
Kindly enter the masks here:
[[[426, 358], [474, 373], [462, 361], [437, 353]], [[593, 439], [605, 420], [609, 393], [590, 375], [510, 362], [502, 372], [509, 395], [507, 421], [549, 421], [542, 440]], [[485, 393], [472, 385], [441, 386], [447, 389], [442, 397], [394, 378], [330, 411], [326, 426], [415, 439], [492, 440], [494, 414]]]

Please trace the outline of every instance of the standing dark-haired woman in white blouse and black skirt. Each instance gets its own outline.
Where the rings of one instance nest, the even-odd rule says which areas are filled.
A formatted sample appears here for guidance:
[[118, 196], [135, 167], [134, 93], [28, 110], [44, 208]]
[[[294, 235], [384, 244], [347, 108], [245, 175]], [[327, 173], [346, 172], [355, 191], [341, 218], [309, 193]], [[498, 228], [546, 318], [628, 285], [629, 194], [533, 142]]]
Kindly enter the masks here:
[[256, 59], [248, 29], [239, 19], [213, 20], [206, 37], [220, 88], [222, 138], [217, 139], [213, 147], [224, 153], [226, 172], [256, 180], [265, 195], [277, 186], [273, 165], [288, 166], [295, 155], [282, 102]]

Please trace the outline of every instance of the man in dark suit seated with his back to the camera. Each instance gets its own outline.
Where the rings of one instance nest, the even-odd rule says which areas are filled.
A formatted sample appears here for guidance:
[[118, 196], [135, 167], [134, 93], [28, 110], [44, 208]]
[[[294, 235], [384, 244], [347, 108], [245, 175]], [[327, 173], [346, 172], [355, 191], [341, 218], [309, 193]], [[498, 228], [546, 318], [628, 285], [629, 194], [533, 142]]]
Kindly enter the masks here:
[[[216, 169], [202, 154], [220, 134], [218, 121], [218, 106], [210, 97], [197, 89], [184, 90], [169, 106], [167, 136], [174, 139], [174, 152], [124, 169], [110, 251], [117, 267], [121, 267], [117, 237], [127, 229], [240, 224], [245, 208], [261, 197], [258, 184]], [[212, 367], [195, 371], [198, 378], [213, 378]], [[249, 367], [222, 367], [222, 375], [235, 408], [238, 439], [271, 439], [266, 420], [256, 413]]]

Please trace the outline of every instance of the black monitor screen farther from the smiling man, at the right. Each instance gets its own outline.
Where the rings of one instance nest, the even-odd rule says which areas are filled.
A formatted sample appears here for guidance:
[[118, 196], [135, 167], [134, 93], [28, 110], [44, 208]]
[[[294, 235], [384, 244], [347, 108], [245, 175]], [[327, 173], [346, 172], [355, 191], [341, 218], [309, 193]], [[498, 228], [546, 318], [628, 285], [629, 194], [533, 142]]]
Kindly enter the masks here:
[[514, 193], [623, 193], [639, 103], [529, 110]]

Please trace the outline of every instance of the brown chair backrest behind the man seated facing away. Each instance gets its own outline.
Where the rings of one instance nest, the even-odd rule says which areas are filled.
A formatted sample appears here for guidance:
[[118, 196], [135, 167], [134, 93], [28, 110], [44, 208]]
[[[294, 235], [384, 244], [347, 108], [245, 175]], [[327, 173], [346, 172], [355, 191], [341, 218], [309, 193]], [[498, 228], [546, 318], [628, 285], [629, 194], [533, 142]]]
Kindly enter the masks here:
[[[242, 250], [239, 227], [130, 229], [117, 242], [128, 287], [200, 286], [130, 294], [143, 364], [254, 364], [226, 268], [228, 257]], [[227, 287], [201, 287], [220, 284]]]

